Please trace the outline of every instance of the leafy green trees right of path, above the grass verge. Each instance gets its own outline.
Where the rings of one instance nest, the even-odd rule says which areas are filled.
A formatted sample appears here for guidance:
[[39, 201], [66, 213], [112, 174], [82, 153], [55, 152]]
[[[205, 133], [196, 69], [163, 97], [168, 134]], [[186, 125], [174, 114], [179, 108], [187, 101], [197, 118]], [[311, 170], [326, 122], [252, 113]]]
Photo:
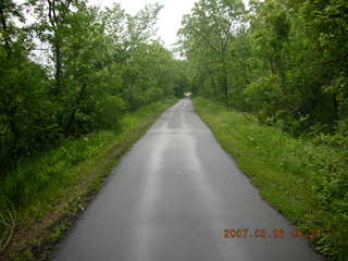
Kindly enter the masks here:
[[[228, 4], [238, 10], [238, 2]], [[297, 136], [319, 125], [325, 133], [341, 129], [348, 100], [346, 1], [254, 0], [240, 13], [221, 13], [222, 5], [200, 1], [183, 18], [181, 48], [194, 91], [227, 97], [228, 105]], [[238, 26], [226, 29], [226, 21]]]

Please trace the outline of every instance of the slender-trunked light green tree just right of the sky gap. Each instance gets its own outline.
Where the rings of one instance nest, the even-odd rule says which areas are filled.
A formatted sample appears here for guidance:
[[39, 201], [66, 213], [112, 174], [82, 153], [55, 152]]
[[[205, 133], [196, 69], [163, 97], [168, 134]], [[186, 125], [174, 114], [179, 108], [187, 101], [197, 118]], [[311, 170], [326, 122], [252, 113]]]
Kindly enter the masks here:
[[227, 53], [229, 42], [238, 32], [244, 4], [239, 0], [200, 0], [190, 15], [183, 18], [179, 30], [188, 59], [216, 72], [223, 99], [228, 105]]

